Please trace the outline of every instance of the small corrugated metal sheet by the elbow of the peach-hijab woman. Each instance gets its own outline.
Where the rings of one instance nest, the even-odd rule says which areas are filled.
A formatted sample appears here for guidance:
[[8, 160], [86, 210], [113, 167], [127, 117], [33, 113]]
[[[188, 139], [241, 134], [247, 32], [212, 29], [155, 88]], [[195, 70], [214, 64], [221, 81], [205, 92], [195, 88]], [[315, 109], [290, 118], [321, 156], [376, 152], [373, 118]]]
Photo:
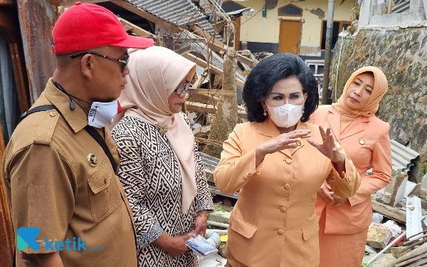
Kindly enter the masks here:
[[401, 169], [404, 172], [408, 172], [415, 164], [413, 160], [419, 155], [418, 152], [411, 150], [411, 148], [391, 140], [391, 165], [394, 169]]

